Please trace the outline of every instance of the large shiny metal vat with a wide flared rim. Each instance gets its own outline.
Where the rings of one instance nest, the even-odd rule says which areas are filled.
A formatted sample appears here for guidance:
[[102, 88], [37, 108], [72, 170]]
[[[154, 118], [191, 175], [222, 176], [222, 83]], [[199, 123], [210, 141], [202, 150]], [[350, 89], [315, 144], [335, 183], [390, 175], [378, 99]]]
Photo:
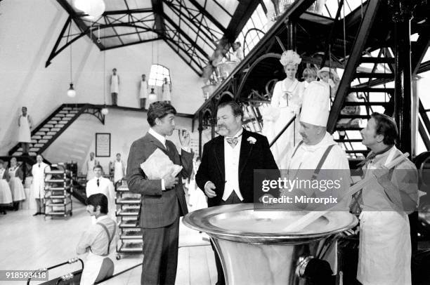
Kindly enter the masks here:
[[334, 237], [357, 225], [351, 213], [330, 212], [301, 232], [284, 232], [306, 212], [254, 211], [253, 204], [204, 208], [183, 223], [206, 232], [221, 257], [229, 285], [303, 284], [295, 274], [310, 256], [321, 257]]

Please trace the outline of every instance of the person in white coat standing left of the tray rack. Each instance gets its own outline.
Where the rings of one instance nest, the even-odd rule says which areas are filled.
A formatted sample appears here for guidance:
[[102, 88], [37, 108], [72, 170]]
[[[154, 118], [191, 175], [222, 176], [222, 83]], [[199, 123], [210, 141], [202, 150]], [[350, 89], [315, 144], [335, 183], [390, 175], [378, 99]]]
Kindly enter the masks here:
[[44, 163], [44, 158], [41, 154], [38, 154], [36, 157], [37, 163], [32, 167], [32, 193], [34, 198], [36, 199], [36, 210], [33, 216], [43, 215], [45, 213], [45, 178], [46, 180], [51, 179], [51, 175], [46, 175], [45, 171], [51, 171], [51, 167], [48, 164]]

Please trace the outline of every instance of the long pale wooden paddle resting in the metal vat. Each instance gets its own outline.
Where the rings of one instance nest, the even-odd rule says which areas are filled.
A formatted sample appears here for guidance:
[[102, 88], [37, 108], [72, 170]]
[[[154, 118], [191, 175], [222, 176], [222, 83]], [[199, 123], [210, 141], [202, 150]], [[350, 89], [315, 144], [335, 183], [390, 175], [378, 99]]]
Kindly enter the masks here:
[[[405, 154], [400, 155], [400, 157], [394, 159], [393, 161], [386, 164], [386, 168], [393, 168], [400, 162], [402, 162], [404, 159], [409, 157], [409, 153], [406, 152]], [[356, 192], [358, 192], [360, 189], [363, 189], [363, 187], [367, 186], [369, 183], [371, 183], [375, 179], [374, 176], [369, 176], [367, 178], [364, 178], [363, 180], [360, 180], [358, 183], [352, 185], [348, 191], [346, 191], [346, 195], [353, 195]], [[336, 206], [332, 206], [332, 208], [328, 208], [326, 211], [313, 211], [311, 213], [307, 213], [305, 216], [299, 218], [299, 220], [296, 220], [294, 223], [289, 224], [287, 227], [283, 229], [284, 232], [298, 232], [300, 230], [303, 230], [306, 226], [311, 225], [315, 220], [318, 220], [318, 218], [325, 215], [325, 213], [333, 211]]]

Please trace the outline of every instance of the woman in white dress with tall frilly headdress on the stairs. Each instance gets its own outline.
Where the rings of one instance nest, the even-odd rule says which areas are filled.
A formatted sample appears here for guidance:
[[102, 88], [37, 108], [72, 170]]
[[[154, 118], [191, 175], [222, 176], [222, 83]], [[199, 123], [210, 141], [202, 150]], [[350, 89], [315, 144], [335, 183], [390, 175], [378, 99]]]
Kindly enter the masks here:
[[284, 66], [287, 78], [275, 84], [271, 98], [271, 107], [263, 111], [263, 135], [266, 135], [269, 143], [282, 131], [282, 128], [294, 117], [294, 114], [297, 115], [295, 124], [289, 125], [287, 130], [282, 133], [280, 138], [271, 147], [273, 157], [280, 169], [287, 167], [287, 152], [301, 140], [299, 134], [299, 114], [304, 84], [296, 79], [297, 67], [300, 62], [301, 58], [295, 51], [290, 50], [282, 53], [280, 63]]

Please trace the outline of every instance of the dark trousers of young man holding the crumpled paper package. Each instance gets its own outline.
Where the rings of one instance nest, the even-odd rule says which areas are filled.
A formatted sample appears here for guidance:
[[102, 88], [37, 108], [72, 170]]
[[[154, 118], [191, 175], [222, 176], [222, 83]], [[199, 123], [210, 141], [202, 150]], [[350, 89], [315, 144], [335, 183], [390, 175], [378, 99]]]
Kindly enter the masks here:
[[141, 284], [174, 285], [178, 266], [179, 216], [167, 227], [142, 229], [143, 269]]

